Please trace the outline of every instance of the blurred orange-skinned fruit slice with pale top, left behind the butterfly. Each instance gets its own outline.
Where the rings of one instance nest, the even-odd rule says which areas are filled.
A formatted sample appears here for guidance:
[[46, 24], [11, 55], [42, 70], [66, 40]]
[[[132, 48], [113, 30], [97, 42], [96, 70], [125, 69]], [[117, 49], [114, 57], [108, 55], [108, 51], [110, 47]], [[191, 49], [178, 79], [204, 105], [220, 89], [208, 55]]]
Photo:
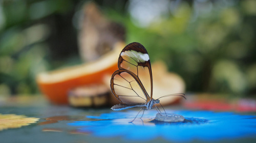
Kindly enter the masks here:
[[70, 90], [81, 85], [103, 83], [105, 75], [118, 69], [117, 60], [123, 47], [124, 43], [117, 43], [114, 50], [91, 63], [39, 73], [36, 77], [38, 87], [52, 103], [68, 104]]

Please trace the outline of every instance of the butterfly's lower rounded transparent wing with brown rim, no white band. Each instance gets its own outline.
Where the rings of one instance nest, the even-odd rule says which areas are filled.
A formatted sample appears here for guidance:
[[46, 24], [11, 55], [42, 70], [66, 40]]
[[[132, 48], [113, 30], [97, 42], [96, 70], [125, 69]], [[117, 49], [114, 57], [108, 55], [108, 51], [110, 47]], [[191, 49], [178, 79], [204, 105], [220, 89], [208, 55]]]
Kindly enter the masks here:
[[112, 93], [121, 103], [146, 103], [147, 93], [140, 79], [134, 73], [121, 69], [111, 78]]

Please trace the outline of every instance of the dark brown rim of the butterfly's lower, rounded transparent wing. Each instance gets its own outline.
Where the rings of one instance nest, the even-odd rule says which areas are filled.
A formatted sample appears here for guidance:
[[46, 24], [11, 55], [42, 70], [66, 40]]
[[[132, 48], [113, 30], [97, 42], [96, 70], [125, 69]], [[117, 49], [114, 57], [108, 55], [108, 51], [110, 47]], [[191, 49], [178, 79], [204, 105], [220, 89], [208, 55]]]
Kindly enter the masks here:
[[120, 70], [115, 71], [115, 72], [112, 74], [112, 77], [111, 77], [111, 80], [110, 80], [110, 88], [111, 88], [111, 91], [112, 91], [112, 93], [115, 95], [115, 97], [117, 98], [117, 100], [119, 100], [121, 103], [123, 103], [122, 100], [121, 100], [121, 99], [118, 97], [118, 95], [116, 95], [116, 93], [115, 93], [115, 89], [114, 89], [114, 76], [115, 76], [116, 74], [120, 75], [120, 73], [122, 73], [122, 72], [127, 72], [127, 73], [129, 73], [129, 74], [136, 80], [136, 82], [140, 85], [140, 88], [141, 88], [141, 90], [143, 91], [144, 96], [146, 97], [146, 100], [147, 100], [146, 102], [150, 101], [151, 98], [150, 98], [150, 96], [148, 96], [148, 94], [147, 94], [147, 92], [146, 92], [146, 90], [145, 90], [143, 84], [141, 83], [139, 77], [136, 76], [136, 75], [135, 75], [134, 73], [132, 73], [131, 71], [128, 71], [128, 70], [125, 70], [125, 69], [120, 69]]

